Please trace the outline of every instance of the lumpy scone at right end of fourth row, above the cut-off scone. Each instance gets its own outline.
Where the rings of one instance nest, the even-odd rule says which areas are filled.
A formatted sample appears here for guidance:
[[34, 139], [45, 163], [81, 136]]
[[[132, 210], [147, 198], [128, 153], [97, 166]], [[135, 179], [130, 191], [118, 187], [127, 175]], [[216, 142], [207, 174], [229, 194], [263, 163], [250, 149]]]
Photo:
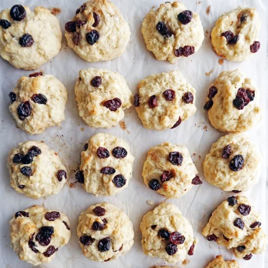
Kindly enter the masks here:
[[259, 214], [246, 196], [230, 196], [212, 212], [202, 234], [227, 249], [237, 258], [249, 260], [252, 254], [265, 251], [267, 239], [260, 228]]

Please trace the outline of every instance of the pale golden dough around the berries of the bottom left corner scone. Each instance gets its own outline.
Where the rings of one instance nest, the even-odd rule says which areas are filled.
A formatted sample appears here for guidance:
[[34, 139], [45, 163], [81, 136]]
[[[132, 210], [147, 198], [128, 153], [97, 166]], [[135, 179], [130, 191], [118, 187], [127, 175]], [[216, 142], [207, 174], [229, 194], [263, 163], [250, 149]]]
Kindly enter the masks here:
[[[46, 212], [53, 210], [46, 210], [40, 206], [32, 206], [26, 210], [28, 217], [23, 215], [14, 217], [10, 220], [10, 240], [11, 246], [23, 261], [28, 262], [31, 265], [39, 265], [42, 263], [49, 263], [57, 254], [57, 251], [50, 257], [46, 257], [43, 253], [50, 247], [54, 246], [55, 249], [60, 250], [61, 247], [66, 245], [71, 237], [71, 231], [67, 229], [70, 227], [68, 217], [60, 211], [60, 217], [54, 221], [45, 219]], [[63, 223], [63, 221], [65, 223]], [[66, 226], [66, 225], [67, 226]], [[36, 240], [36, 235], [39, 232], [39, 228], [43, 226], [50, 226], [54, 228], [54, 234], [52, 234], [51, 242], [48, 246], [42, 246]], [[70, 229], [70, 228], [69, 228]], [[34, 235], [33, 235], [34, 234]], [[28, 242], [33, 235], [33, 242], [35, 243], [35, 249], [39, 252], [34, 252], [28, 245]]]

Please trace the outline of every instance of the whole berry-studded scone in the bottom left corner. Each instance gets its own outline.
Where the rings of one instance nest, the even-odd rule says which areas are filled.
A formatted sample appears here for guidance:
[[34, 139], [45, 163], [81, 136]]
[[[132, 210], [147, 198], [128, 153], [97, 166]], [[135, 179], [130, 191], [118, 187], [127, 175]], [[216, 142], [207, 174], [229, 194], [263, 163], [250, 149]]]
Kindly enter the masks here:
[[21, 260], [34, 266], [51, 262], [71, 237], [65, 214], [37, 205], [16, 212], [9, 224], [11, 247]]

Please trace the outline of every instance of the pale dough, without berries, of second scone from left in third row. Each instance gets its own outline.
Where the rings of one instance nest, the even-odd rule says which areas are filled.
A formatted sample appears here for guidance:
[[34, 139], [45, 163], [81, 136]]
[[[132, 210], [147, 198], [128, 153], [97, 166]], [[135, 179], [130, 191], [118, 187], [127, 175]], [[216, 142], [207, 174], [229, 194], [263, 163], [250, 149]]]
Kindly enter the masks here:
[[[88, 148], [81, 153], [80, 170], [84, 174], [84, 184], [82, 184], [85, 191], [98, 196], [114, 195], [128, 187], [129, 181], [132, 178], [132, 168], [134, 156], [130, 151], [130, 147], [126, 141], [117, 138], [111, 134], [98, 133], [92, 136], [88, 141]], [[127, 156], [124, 158], [116, 158], [113, 155], [115, 147], [123, 147], [127, 150]], [[110, 156], [108, 158], [99, 158], [97, 156], [97, 149], [99, 147], [106, 148]], [[103, 174], [100, 170], [104, 167], [112, 167], [115, 169], [113, 174]], [[121, 174], [126, 179], [123, 187], [117, 188], [113, 183], [116, 175]]]

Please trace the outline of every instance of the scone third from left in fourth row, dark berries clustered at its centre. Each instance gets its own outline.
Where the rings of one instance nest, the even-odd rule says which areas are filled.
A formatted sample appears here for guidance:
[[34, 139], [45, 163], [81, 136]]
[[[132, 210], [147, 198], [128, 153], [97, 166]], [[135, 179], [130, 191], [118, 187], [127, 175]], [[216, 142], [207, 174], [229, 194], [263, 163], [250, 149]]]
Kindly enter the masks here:
[[169, 263], [182, 262], [194, 247], [191, 223], [171, 203], [147, 212], [140, 223], [141, 246], [146, 255]]

